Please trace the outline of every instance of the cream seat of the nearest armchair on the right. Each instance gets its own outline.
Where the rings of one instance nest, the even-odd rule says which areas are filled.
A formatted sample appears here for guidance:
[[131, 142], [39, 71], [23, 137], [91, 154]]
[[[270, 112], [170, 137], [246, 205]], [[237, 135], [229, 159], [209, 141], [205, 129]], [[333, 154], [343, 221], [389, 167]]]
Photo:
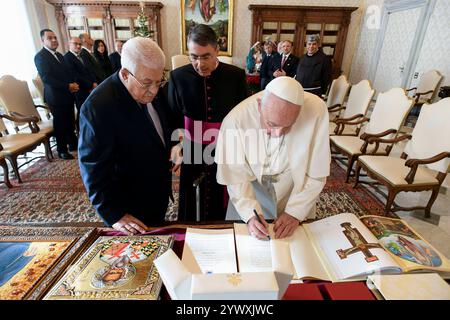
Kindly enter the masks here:
[[[392, 185], [411, 185], [405, 181], [405, 177], [411, 170], [411, 168], [405, 166], [405, 159], [385, 156], [360, 156], [358, 159], [377, 176], [382, 177]], [[439, 184], [439, 181], [429, 171], [419, 166], [412, 185], [421, 184]]]

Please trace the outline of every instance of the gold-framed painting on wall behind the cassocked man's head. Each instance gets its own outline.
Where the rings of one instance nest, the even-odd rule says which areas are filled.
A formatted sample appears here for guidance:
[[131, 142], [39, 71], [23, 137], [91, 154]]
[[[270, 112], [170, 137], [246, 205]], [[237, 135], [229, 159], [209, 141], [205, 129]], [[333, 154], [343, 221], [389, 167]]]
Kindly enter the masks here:
[[187, 54], [189, 31], [197, 24], [206, 24], [216, 32], [219, 55], [232, 55], [233, 0], [181, 0], [183, 54]]

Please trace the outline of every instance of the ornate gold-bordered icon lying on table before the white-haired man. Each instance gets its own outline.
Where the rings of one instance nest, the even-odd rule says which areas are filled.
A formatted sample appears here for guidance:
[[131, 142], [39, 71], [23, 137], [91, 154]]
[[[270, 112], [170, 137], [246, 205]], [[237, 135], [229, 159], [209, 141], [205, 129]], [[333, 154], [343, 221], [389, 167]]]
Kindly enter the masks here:
[[162, 280], [153, 260], [173, 236], [98, 238], [44, 299], [156, 300]]

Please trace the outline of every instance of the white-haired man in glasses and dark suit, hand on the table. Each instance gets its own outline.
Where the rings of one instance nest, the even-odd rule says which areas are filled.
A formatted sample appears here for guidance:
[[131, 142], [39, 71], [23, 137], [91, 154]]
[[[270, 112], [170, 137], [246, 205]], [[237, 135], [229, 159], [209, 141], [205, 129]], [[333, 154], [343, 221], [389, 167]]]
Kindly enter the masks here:
[[78, 158], [97, 213], [108, 226], [132, 235], [164, 221], [171, 132], [169, 109], [158, 94], [162, 50], [151, 39], [135, 37], [124, 44], [122, 63], [81, 108]]

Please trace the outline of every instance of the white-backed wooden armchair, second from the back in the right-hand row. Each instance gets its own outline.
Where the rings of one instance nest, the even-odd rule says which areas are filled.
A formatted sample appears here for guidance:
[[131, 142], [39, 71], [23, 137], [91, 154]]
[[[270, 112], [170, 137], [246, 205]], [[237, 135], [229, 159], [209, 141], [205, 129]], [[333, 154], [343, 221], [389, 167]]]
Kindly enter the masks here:
[[347, 104], [337, 108], [335, 111], [344, 110], [342, 117], [338, 115], [330, 122], [330, 135], [357, 136], [361, 130], [361, 123], [355, 121], [365, 117], [372, 101], [375, 90], [372, 89], [368, 80], [361, 80], [352, 86]]

